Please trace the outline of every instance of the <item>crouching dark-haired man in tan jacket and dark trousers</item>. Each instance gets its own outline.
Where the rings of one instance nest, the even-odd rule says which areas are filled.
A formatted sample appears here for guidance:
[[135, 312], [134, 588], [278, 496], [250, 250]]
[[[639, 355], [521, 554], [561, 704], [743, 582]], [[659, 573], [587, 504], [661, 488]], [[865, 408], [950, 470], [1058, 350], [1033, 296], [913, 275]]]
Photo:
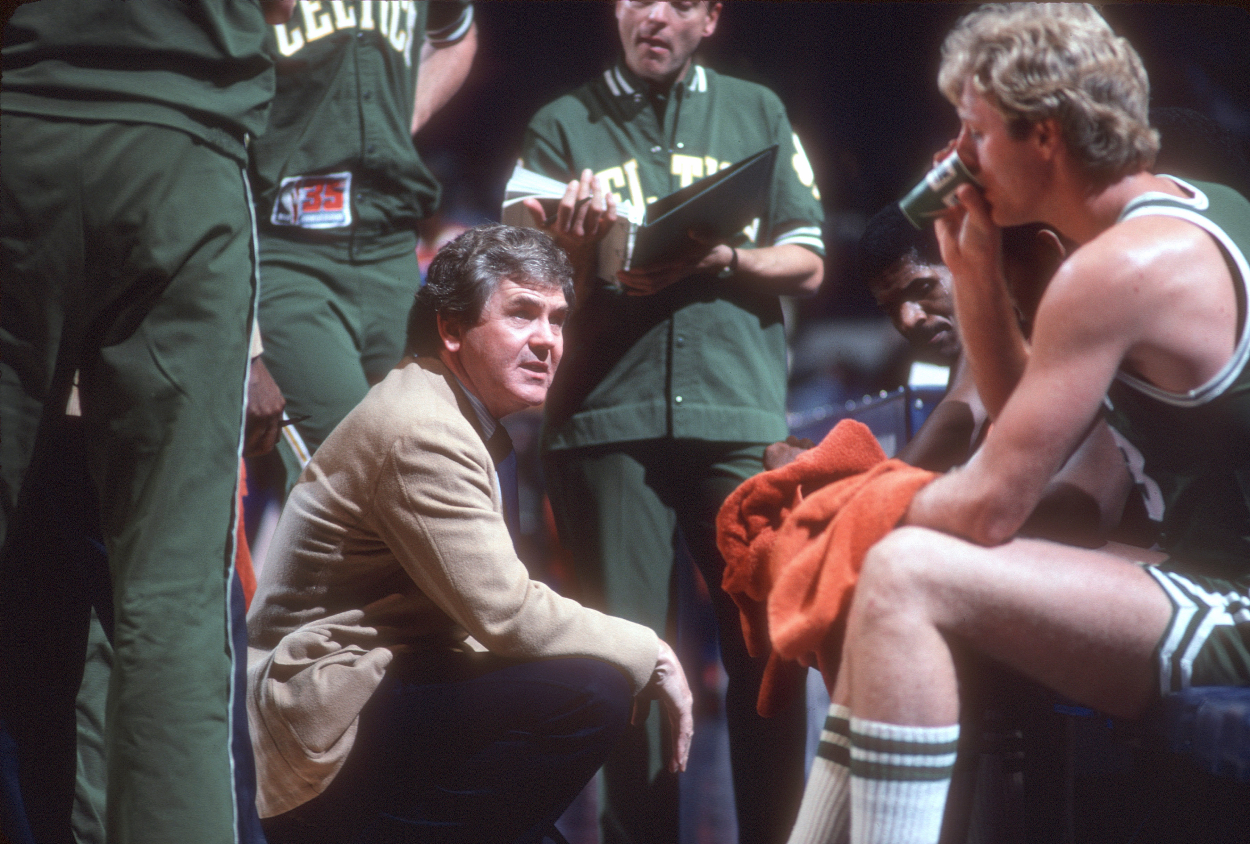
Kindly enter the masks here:
[[685, 768], [672, 650], [531, 580], [505, 523], [499, 419], [546, 396], [571, 290], [541, 233], [458, 238], [416, 295], [409, 356], [291, 491], [248, 615], [271, 844], [554, 838], [636, 698], [659, 698]]

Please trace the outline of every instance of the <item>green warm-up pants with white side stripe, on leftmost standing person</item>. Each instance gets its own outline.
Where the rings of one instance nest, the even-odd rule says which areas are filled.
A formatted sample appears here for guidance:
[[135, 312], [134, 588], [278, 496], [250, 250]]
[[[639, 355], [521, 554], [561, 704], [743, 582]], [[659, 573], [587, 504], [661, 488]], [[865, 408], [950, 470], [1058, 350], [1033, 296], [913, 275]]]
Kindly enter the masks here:
[[241, 163], [156, 125], [0, 120], [0, 716], [26, 814], [35, 840], [65, 840], [90, 606], [68, 600], [80, 575], [31, 500], [64, 469], [78, 374], [112, 593], [109, 840], [235, 841], [228, 584], [256, 293]]

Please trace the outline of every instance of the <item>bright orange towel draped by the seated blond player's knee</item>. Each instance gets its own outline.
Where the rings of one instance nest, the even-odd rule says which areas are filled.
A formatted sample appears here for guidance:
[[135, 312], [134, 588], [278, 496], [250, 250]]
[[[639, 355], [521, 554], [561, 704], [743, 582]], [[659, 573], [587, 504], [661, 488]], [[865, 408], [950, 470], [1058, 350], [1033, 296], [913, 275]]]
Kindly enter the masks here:
[[716, 519], [722, 585], [741, 613], [748, 650], [770, 654], [761, 715], [798, 691], [804, 666], [832, 685], [838, 663], [825, 658], [840, 648], [864, 555], [935, 476], [886, 459], [868, 426], [842, 420], [820, 445], [725, 500]]

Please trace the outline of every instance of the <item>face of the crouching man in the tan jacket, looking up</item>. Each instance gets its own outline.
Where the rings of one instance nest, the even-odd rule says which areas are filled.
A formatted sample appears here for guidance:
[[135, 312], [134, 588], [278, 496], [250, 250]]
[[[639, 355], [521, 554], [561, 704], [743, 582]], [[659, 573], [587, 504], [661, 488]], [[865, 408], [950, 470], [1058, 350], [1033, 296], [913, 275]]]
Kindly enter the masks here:
[[559, 284], [502, 279], [468, 328], [439, 316], [444, 361], [495, 419], [542, 404], [564, 351]]

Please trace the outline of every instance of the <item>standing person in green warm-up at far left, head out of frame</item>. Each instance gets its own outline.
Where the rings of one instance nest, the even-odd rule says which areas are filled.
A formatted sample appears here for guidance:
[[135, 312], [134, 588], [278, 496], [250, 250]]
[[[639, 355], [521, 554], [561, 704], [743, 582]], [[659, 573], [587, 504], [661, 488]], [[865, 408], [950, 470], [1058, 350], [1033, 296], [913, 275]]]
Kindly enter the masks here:
[[[225, 844], [249, 811], [230, 615], [256, 295], [244, 168], [274, 90], [266, 18], [289, 11], [48, 0], [8, 21], [0, 721], [24, 801], [4, 806], [5, 835], [74, 838], [82, 591], [96, 574], [114, 644], [108, 839]], [[65, 524], [45, 506], [65, 500], [59, 479], [90, 486]], [[76, 531], [95, 528], [108, 573], [75, 555]]]

